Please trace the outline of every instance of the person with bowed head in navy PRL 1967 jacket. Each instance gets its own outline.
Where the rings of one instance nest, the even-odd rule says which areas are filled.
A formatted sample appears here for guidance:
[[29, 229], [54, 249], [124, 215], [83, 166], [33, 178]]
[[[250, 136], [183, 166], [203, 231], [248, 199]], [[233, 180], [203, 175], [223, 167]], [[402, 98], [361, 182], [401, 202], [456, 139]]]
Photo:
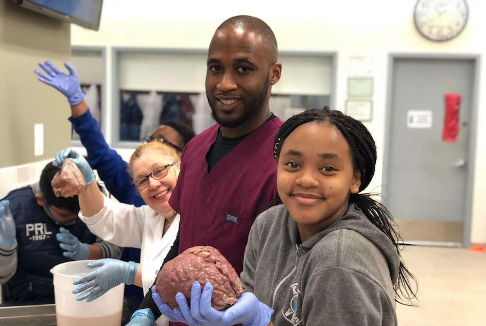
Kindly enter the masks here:
[[[79, 221], [78, 196], [56, 197], [52, 178], [60, 171], [49, 163], [34, 185], [10, 191], [1, 203], [10, 209], [15, 233], [0, 238], [17, 244], [17, 270], [3, 271], [15, 266], [9, 261], [0, 267], [1, 275], [13, 275], [6, 282], [5, 301], [11, 303], [53, 302], [54, 288], [51, 269], [57, 264], [82, 259], [120, 258], [121, 248], [102, 241]], [[5, 240], [5, 239], [4, 239]]]

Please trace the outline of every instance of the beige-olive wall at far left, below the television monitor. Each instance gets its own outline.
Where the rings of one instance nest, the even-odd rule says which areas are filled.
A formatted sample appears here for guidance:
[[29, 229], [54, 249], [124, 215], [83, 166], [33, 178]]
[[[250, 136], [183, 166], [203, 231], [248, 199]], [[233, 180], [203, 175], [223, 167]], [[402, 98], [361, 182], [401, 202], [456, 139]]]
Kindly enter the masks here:
[[[37, 81], [37, 63], [69, 61], [67, 22], [0, 1], [0, 168], [53, 157], [69, 146], [66, 99]], [[34, 156], [34, 124], [44, 124], [44, 155]]]

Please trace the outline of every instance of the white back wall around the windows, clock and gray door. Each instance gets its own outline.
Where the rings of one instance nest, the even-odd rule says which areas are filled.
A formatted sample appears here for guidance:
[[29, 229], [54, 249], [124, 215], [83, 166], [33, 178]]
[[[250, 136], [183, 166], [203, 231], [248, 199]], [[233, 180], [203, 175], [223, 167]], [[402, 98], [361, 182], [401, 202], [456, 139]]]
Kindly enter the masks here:
[[[99, 32], [72, 26], [72, 45], [106, 46], [107, 74], [111, 75], [110, 47], [207, 49], [214, 30], [224, 19], [253, 15], [265, 20], [277, 36], [279, 50], [337, 51], [336, 109], [347, 99], [347, 77], [352, 56], [370, 56], [374, 78], [373, 121], [367, 123], [378, 147], [377, 171], [370, 189], [382, 179], [388, 54], [484, 54], [486, 2], [469, 0], [469, 22], [457, 38], [434, 43], [423, 38], [413, 23], [416, 0], [402, 1], [158, 1], [105, 0]], [[285, 75], [285, 67], [282, 71]], [[480, 80], [486, 80], [481, 67]], [[106, 107], [111, 107], [107, 80]], [[486, 242], [486, 83], [480, 83], [479, 116], [473, 196], [472, 242]], [[108, 129], [111, 128], [108, 124]], [[111, 141], [111, 130], [107, 138]]]

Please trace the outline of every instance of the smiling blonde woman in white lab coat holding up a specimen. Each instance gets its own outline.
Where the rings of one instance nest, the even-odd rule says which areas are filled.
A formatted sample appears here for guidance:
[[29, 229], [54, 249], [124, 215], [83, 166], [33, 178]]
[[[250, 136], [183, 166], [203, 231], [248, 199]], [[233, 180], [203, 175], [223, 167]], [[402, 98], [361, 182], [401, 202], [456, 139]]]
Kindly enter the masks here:
[[[96, 186], [86, 159], [67, 148], [56, 155], [54, 164], [73, 161], [83, 173], [88, 188], [79, 194], [80, 219], [100, 238], [119, 246], [141, 249], [140, 263], [99, 259], [87, 264], [94, 270], [76, 280], [76, 300], [93, 301], [118, 284], [135, 284], [146, 294], [156, 279], [179, 229], [179, 215], [169, 206], [169, 198], [180, 172], [180, 154], [162, 141], [139, 146], [130, 158], [134, 186], [146, 205], [115, 202]], [[157, 319], [156, 325], [168, 325]]]

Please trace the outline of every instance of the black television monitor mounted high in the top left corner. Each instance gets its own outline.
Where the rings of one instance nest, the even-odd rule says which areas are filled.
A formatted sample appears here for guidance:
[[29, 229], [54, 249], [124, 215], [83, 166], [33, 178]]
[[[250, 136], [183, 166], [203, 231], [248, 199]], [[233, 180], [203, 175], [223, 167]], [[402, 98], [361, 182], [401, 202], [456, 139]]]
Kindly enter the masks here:
[[98, 31], [103, 0], [11, 0], [43, 15]]

